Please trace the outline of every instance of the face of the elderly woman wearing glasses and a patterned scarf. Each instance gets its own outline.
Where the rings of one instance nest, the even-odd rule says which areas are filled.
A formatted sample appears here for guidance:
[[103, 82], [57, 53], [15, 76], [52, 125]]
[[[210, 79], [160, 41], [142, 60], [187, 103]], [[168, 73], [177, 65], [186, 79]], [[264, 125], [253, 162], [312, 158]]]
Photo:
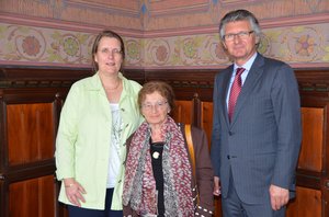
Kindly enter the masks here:
[[150, 125], [162, 124], [167, 114], [170, 112], [167, 99], [160, 95], [157, 91], [146, 94], [141, 103], [141, 114]]

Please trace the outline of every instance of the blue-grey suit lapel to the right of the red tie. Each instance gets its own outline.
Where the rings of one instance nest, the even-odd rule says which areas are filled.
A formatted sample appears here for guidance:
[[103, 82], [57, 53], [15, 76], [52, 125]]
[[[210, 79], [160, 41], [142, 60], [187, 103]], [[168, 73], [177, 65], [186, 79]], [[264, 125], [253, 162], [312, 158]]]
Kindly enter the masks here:
[[264, 65], [264, 58], [263, 56], [261, 56], [260, 54], [258, 54], [257, 58], [254, 59], [250, 71], [248, 73], [248, 77], [243, 83], [243, 87], [241, 89], [241, 92], [239, 94], [236, 107], [235, 107], [235, 112], [234, 112], [234, 116], [231, 119], [231, 126], [234, 125], [234, 123], [236, 122], [241, 108], [243, 107], [243, 104], [246, 103], [246, 100], [249, 96], [249, 93], [251, 92], [251, 90], [254, 88], [257, 81], [260, 79], [260, 77], [263, 73], [263, 65]]

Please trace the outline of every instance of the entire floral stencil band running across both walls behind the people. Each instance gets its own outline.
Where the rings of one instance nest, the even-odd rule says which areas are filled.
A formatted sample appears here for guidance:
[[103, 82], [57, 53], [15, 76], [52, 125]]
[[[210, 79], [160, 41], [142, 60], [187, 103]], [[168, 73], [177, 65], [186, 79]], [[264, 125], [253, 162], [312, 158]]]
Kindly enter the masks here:
[[[259, 52], [292, 65], [329, 62], [329, 26], [263, 31]], [[94, 34], [19, 25], [0, 26], [0, 64], [90, 67]], [[47, 39], [46, 39], [47, 38]], [[124, 37], [127, 68], [218, 68], [228, 65], [219, 35]]]

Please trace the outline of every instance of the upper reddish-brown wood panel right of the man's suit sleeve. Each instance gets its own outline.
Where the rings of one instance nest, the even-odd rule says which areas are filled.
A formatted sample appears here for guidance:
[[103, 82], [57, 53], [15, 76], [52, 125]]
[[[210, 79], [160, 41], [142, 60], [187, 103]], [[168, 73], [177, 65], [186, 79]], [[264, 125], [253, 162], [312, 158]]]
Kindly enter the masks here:
[[321, 172], [324, 151], [325, 111], [321, 107], [302, 107], [303, 141], [298, 169]]

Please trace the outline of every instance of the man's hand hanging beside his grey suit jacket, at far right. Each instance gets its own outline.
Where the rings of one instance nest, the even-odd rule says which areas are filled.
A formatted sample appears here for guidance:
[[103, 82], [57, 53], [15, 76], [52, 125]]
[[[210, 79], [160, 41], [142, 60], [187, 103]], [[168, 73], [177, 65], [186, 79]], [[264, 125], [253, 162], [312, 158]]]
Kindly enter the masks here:
[[273, 210], [281, 209], [290, 201], [290, 191], [271, 184], [270, 186], [271, 206]]

